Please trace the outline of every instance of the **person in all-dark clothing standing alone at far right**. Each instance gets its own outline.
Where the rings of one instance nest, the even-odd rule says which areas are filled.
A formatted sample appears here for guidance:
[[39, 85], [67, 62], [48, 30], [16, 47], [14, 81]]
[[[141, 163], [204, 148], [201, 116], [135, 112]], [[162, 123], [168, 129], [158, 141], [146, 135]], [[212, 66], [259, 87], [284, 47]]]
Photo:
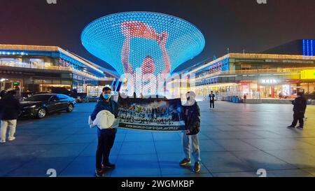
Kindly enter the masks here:
[[288, 126], [288, 128], [295, 128], [297, 125], [297, 121], [299, 121], [300, 125], [297, 127], [298, 129], [303, 129], [304, 125], [304, 114], [307, 108], [307, 100], [303, 97], [302, 92], [297, 93], [297, 98], [292, 101], [293, 104], [293, 122], [292, 125]]

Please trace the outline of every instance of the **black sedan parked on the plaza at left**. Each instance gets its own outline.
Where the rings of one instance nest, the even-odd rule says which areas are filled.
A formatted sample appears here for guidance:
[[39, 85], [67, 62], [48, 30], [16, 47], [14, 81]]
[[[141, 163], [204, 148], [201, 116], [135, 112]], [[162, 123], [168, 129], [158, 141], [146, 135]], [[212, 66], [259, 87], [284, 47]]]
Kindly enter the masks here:
[[45, 118], [56, 111], [73, 111], [75, 99], [65, 94], [35, 94], [21, 102], [20, 117]]

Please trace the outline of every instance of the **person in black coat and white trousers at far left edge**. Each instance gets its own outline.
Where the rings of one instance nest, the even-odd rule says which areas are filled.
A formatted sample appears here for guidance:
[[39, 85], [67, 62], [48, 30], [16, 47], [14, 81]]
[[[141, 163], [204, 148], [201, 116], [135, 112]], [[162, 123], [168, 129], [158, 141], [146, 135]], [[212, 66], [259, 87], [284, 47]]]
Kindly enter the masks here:
[[10, 90], [0, 100], [1, 140], [6, 143], [6, 132], [9, 128], [8, 141], [15, 140], [15, 129], [21, 110], [20, 101], [15, 98], [17, 92]]

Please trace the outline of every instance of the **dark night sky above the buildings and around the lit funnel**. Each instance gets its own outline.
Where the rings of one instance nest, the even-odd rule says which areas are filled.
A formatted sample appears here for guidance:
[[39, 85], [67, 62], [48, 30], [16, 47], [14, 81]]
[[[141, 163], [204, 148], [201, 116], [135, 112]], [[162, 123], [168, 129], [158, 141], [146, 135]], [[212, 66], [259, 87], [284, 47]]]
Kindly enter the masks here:
[[93, 20], [125, 11], [153, 11], [181, 17], [200, 28], [204, 51], [177, 70], [230, 52], [260, 52], [301, 38], [315, 38], [314, 0], [0, 0], [0, 43], [57, 45], [113, 69], [80, 42]]

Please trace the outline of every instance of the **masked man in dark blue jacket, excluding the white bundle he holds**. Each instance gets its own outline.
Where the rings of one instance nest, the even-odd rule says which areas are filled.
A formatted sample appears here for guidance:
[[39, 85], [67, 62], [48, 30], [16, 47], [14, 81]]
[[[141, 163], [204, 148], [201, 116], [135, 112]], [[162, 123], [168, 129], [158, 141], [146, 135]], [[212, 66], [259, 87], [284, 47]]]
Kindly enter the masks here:
[[[94, 121], [97, 118], [97, 114], [104, 110], [110, 111], [113, 115], [115, 115], [115, 117], [117, 117], [116, 108], [116, 102], [111, 99], [111, 88], [104, 87], [90, 118]], [[113, 126], [106, 129], [100, 129], [97, 127], [98, 145], [95, 170], [95, 176], [97, 177], [103, 176], [105, 169], [115, 168], [115, 164], [111, 164], [109, 162], [109, 154], [111, 153], [111, 148], [113, 147], [113, 143], [116, 138], [116, 132], [117, 129], [113, 128]]]

